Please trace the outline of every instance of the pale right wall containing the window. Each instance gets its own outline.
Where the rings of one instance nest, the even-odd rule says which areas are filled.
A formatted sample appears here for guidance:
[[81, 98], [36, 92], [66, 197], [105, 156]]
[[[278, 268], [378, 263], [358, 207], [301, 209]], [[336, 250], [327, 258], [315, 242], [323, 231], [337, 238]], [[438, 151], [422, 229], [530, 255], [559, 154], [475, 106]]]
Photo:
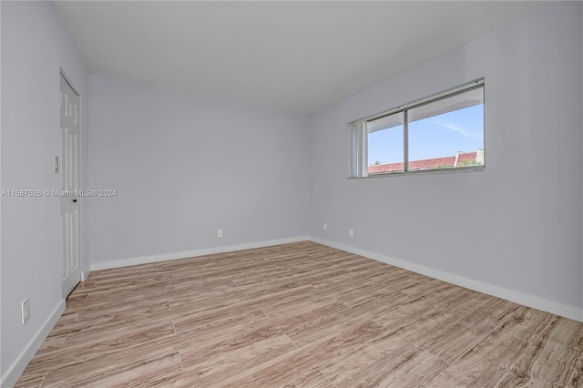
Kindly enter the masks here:
[[[581, 8], [541, 8], [310, 117], [310, 234], [583, 319]], [[346, 179], [348, 122], [477, 77], [486, 171]]]

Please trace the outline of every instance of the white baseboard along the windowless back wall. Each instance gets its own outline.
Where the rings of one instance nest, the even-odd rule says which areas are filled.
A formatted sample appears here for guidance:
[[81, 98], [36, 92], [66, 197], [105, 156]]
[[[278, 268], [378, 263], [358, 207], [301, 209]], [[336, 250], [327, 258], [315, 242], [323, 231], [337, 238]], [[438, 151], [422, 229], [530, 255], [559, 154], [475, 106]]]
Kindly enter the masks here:
[[203, 250], [187, 250], [187, 251], [182, 251], [182, 252], [165, 253], [165, 254], [161, 254], [161, 255], [142, 256], [142, 257], [131, 258], [131, 259], [102, 261], [102, 262], [96, 262], [96, 263], [91, 264], [91, 271], [107, 270], [110, 268], [118, 268], [118, 267], [128, 267], [130, 265], [138, 265], [138, 264], [149, 264], [152, 262], [159, 262], [159, 261], [188, 259], [188, 258], [194, 258], [194, 257], [198, 257], [198, 256], [212, 255], [215, 253], [232, 252], [234, 250], [252, 250], [255, 248], [270, 247], [271, 245], [288, 244], [291, 242], [299, 242], [299, 241], [305, 241], [305, 240], [310, 240], [310, 239], [308, 236], [298, 236], [298, 237], [292, 237], [292, 238], [287, 238], [287, 239], [258, 241], [258, 242], [250, 242], [250, 243], [245, 243], [245, 244], [228, 245], [226, 247], [207, 248], [207, 249], [203, 249]]

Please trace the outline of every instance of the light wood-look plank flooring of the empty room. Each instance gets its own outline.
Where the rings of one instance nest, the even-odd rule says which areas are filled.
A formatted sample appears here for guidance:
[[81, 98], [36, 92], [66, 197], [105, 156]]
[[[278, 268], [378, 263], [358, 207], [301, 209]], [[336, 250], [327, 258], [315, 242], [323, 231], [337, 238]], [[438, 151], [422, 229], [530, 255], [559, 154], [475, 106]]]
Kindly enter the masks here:
[[313, 242], [93, 271], [19, 387], [573, 387], [583, 324]]

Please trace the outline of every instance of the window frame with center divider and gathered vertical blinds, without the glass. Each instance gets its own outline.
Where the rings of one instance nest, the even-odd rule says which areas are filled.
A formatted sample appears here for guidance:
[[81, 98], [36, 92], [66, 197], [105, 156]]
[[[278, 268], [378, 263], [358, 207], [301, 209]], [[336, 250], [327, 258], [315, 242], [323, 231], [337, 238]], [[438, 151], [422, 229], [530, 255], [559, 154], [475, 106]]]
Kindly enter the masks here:
[[[387, 176], [400, 176], [400, 175], [413, 175], [413, 174], [426, 174], [426, 173], [444, 173], [444, 172], [461, 172], [461, 171], [481, 171], [486, 169], [486, 158], [484, 158], [484, 163], [479, 166], [465, 166], [465, 167], [455, 167], [455, 168], [431, 168], [431, 169], [415, 169], [410, 171], [409, 168], [409, 144], [408, 144], [408, 118], [407, 114], [410, 109], [414, 107], [421, 107], [427, 104], [431, 104], [435, 101], [445, 99], [448, 97], [453, 97], [455, 95], [465, 93], [470, 90], [477, 88], [482, 88], [484, 95], [486, 95], [486, 88], [484, 83], [484, 78], [479, 78], [474, 81], [468, 82], [459, 87], [454, 87], [448, 89], [444, 92], [435, 94], [431, 97], [425, 97], [423, 99], [416, 100], [414, 102], [394, 107], [392, 109], [386, 110], [381, 113], [377, 113], [373, 116], [359, 118], [348, 123], [351, 128], [351, 178], [368, 178], [368, 177], [387, 177]], [[485, 97], [486, 100], [486, 97]], [[486, 106], [486, 102], [485, 102]], [[404, 123], [403, 123], [403, 171], [392, 171], [392, 172], [381, 172], [376, 174], [368, 173], [368, 129], [366, 128], [369, 121], [373, 121], [378, 118], [383, 118], [387, 116], [394, 115], [396, 113], [404, 113]], [[486, 133], [486, 117], [484, 124], [484, 132]], [[486, 139], [484, 152], [486, 150]]]

